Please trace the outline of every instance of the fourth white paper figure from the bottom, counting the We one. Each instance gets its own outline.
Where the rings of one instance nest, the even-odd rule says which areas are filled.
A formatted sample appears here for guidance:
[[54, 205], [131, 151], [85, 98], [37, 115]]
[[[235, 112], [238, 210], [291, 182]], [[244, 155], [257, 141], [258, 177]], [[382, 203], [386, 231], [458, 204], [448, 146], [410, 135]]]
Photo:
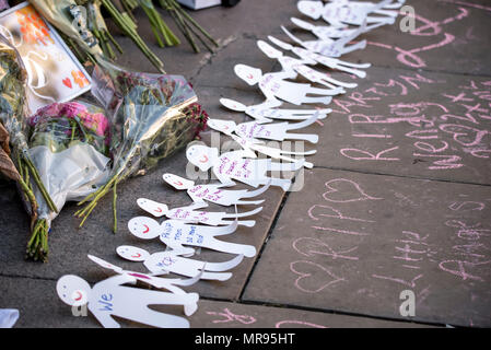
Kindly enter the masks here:
[[[154, 215], [155, 218], [166, 217], [172, 220], [180, 220], [189, 223], [202, 223], [206, 225], [218, 226], [218, 225], [229, 225], [233, 221], [224, 219], [238, 219], [255, 215], [262, 210], [262, 207], [256, 208], [254, 210], [241, 213], [227, 213], [224, 211], [197, 211], [194, 209], [199, 209], [208, 207], [206, 202], [195, 202], [191, 206], [168, 209], [164, 203], [153, 201], [147, 198], [139, 198], [137, 200], [138, 206], [147, 211], [148, 213]], [[237, 223], [243, 226], [252, 228], [256, 224], [255, 220], [238, 220]]]

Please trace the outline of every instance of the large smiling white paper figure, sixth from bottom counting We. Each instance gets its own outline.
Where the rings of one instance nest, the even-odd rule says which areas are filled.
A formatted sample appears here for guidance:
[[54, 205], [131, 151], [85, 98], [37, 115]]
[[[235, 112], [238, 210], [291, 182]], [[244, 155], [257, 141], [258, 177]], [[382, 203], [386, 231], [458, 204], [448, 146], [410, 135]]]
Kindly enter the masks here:
[[295, 163], [273, 163], [270, 159], [257, 158], [249, 150], [225, 152], [219, 155], [219, 150], [208, 145], [192, 144], [186, 151], [188, 161], [198, 166], [202, 172], [212, 168], [213, 174], [222, 184], [229, 184], [234, 179], [253, 187], [266, 185], [271, 182], [272, 186], [281, 186], [288, 190], [291, 180], [287, 178], [268, 177], [268, 171], [294, 172], [301, 168], [305, 160]]

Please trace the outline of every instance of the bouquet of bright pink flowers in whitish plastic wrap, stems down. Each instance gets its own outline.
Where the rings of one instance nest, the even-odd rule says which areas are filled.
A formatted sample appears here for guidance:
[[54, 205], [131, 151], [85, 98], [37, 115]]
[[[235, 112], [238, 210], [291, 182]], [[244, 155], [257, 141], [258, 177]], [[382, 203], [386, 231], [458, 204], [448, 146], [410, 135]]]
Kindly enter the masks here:
[[[85, 103], [55, 103], [27, 119], [28, 154], [55, 206], [80, 200], [106, 183], [110, 127], [101, 108]], [[36, 198], [40, 194], [34, 190]], [[47, 235], [57, 212], [39, 201], [27, 254], [45, 260]]]

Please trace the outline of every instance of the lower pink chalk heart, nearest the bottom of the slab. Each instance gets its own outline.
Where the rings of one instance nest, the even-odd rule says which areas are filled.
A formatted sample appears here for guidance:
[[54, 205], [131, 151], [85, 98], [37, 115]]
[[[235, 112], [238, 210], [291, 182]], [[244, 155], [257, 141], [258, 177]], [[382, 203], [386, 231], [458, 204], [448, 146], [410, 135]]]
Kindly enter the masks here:
[[290, 270], [300, 275], [295, 280], [295, 287], [305, 293], [318, 293], [337, 282], [346, 281], [325, 267], [312, 261], [293, 261], [290, 264]]

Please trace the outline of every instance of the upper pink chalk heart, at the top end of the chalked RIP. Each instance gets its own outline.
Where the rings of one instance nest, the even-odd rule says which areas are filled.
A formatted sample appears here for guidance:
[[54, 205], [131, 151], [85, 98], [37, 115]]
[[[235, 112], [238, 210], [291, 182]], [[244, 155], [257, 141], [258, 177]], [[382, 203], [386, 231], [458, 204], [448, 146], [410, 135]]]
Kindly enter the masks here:
[[[328, 180], [325, 186], [327, 188], [327, 191], [325, 191], [323, 195], [324, 199], [335, 203], [347, 203], [351, 201], [361, 201], [367, 199], [384, 199], [366, 195], [359, 184], [347, 178], [335, 178]], [[355, 191], [354, 195], [353, 190]]]

